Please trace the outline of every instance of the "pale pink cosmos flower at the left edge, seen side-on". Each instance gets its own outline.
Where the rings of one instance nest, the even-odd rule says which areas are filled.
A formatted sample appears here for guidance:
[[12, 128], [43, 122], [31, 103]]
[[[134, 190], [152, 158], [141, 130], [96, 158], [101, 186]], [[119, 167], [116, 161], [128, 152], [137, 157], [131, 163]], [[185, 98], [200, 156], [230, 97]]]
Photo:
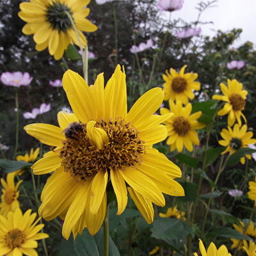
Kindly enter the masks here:
[[33, 78], [29, 75], [28, 72], [25, 72], [24, 74], [22, 74], [22, 72], [4, 72], [0, 77], [0, 80], [3, 84], [15, 87], [20, 87], [22, 85], [28, 86], [32, 79]]

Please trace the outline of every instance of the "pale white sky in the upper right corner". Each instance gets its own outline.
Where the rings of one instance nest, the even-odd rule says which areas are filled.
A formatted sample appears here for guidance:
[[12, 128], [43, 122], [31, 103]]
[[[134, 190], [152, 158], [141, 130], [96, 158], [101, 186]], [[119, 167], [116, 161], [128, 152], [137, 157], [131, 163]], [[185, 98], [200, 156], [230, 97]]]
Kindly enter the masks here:
[[[183, 8], [172, 13], [172, 18], [195, 21], [198, 10], [195, 6], [200, 0], [184, 0]], [[234, 46], [237, 47], [246, 41], [256, 44], [256, 0], [218, 0], [216, 7], [209, 8], [201, 16], [201, 21], [212, 21], [214, 24], [202, 26], [203, 35], [214, 35], [214, 30], [227, 31], [232, 28], [241, 28], [243, 33]]]

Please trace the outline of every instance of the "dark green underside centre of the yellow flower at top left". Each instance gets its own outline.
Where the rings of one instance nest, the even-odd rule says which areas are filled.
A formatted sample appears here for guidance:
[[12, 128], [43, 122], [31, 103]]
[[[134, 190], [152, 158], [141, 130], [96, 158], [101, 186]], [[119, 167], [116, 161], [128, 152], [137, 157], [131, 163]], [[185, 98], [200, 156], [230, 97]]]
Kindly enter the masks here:
[[72, 16], [71, 9], [67, 4], [60, 2], [49, 4], [46, 11], [46, 18], [51, 23], [53, 29], [65, 32], [67, 29], [72, 28], [72, 23], [66, 12]]

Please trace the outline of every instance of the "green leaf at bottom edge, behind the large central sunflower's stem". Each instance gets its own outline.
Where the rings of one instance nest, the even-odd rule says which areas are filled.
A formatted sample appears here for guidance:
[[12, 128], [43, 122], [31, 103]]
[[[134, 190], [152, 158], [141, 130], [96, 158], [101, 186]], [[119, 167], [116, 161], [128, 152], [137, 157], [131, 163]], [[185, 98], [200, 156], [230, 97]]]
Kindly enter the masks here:
[[[74, 250], [77, 256], [104, 256], [104, 235], [102, 228], [95, 236], [91, 236], [87, 230], [77, 235], [74, 240]], [[115, 243], [109, 236], [109, 255], [120, 256]]]

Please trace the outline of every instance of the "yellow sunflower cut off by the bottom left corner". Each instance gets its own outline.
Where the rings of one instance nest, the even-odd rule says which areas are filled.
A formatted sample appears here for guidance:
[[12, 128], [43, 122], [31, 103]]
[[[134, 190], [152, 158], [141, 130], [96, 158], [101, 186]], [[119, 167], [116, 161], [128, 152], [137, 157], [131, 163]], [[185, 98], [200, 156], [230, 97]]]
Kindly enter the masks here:
[[[36, 240], [49, 237], [45, 233], [38, 233], [44, 224], [35, 221], [36, 213], [31, 209], [24, 214], [17, 208], [9, 212], [6, 217], [0, 216], [0, 255], [6, 256], [36, 256], [34, 248], [38, 246]], [[34, 222], [35, 221], [35, 222]]]

